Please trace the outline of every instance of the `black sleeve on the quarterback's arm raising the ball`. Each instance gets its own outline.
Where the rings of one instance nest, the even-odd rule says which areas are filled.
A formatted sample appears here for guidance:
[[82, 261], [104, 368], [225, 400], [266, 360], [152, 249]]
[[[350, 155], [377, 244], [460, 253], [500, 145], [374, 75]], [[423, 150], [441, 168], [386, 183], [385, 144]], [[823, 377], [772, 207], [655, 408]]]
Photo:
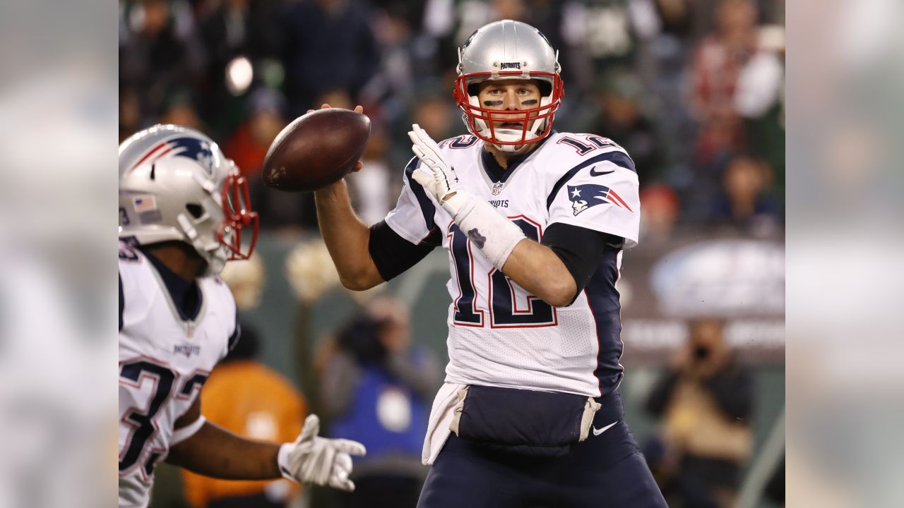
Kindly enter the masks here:
[[434, 229], [426, 239], [414, 244], [400, 237], [386, 221], [380, 221], [371, 226], [371, 240], [367, 249], [380, 277], [391, 280], [426, 258], [440, 241], [439, 230]]

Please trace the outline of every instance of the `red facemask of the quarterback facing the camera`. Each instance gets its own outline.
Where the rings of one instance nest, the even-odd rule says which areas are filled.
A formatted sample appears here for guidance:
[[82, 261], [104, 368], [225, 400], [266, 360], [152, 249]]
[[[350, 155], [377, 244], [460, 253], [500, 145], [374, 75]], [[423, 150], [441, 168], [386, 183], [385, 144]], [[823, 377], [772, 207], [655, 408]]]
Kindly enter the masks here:
[[[536, 79], [539, 76], [543, 76], [545, 78], [552, 78], [552, 97], [551, 102], [546, 106], [540, 106], [537, 108], [528, 108], [528, 109], [517, 109], [517, 110], [504, 110], [504, 109], [490, 109], [490, 108], [481, 108], [480, 106], [474, 106], [469, 102], [469, 94], [467, 91], [467, 81], [474, 80], [476, 78], [486, 78], [489, 76], [509, 76], [515, 78], [522, 78], [524, 76], [521, 71], [503, 71], [498, 73], [493, 72], [474, 72], [471, 74], [464, 74], [459, 76], [455, 81], [455, 90], [454, 95], [456, 99], [456, 103], [459, 109], [465, 112], [467, 116], [467, 124], [470, 127], [472, 133], [475, 136], [483, 139], [488, 143], [493, 143], [494, 145], [515, 145], [520, 146], [525, 143], [532, 143], [534, 141], [538, 141], [546, 136], [549, 136], [552, 131], [552, 119], [557, 109], [561, 106], [562, 97], [565, 96], [564, 83], [562, 82], [559, 74], [553, 72], [530, 72], [528, 76], [532, 79]], [[539, 121], [543, 118], [548, 118], [546, 121], [546, 127], [543, 128], [542, 132], [537, 133], [536, 137], [528, 138], [527, 135], [530, 132], [528, 127], [532, 126], [532, 122], [534, 120]], [[489, 130], [490, 136], [485, 136], [485, 134], [481, 134], [480, 130], [476, 126], [476, 120], [483, 120], [486, 124], [486, 128]], [[522, 125], [521, 129], [521, 139], [515, 141], [504, 141], [498, 139], [495, 133], [494, 122], [518, 122]]]

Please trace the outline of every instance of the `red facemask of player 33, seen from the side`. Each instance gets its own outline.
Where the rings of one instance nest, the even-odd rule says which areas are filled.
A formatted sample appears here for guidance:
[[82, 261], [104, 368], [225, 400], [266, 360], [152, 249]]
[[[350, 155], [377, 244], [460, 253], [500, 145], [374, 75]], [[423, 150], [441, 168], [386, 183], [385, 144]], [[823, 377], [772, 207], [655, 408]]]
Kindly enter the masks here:
[[[223, 212], [226, 218], [217, 231], [217, 240], [230, 250], [228, 261], [249, 259], [258, 241], [258, 212], [251, 210], [248, 182], [244, 176], [231, 174], [223, 183]], [[242, 250], [241, 232], [250, 229], [251, 241], [247, 251]]]

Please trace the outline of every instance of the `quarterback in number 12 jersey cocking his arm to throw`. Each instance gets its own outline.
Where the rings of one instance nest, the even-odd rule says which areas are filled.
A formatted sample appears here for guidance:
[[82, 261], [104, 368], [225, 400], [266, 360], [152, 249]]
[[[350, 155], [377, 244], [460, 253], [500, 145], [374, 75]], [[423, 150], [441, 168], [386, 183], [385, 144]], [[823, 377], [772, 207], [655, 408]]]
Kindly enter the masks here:
[[553, 129], [558, 53], [528, 24], [477, 30], [457, 74], [469, 134], [436, 143], [413, 126], [417, 156], [384, 221], [364, 226], [342, 182], [315, 193], [345, 287], [449, 255], [449, 362], [419, 506], [665, 506], [618, 395], [634, 162], [606, 137]]

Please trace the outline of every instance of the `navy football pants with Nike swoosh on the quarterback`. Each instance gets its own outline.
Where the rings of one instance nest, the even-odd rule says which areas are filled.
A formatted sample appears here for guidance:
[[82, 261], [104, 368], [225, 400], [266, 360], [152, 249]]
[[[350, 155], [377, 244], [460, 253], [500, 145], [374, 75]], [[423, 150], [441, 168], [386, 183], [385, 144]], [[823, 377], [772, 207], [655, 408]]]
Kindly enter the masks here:
[[418, 508], [662, 508], [667, 504], [627, 428], [617, 394], [594, 428], [618, 423], [540, 458], [487, 450], [452, 434], [430, 469]]

